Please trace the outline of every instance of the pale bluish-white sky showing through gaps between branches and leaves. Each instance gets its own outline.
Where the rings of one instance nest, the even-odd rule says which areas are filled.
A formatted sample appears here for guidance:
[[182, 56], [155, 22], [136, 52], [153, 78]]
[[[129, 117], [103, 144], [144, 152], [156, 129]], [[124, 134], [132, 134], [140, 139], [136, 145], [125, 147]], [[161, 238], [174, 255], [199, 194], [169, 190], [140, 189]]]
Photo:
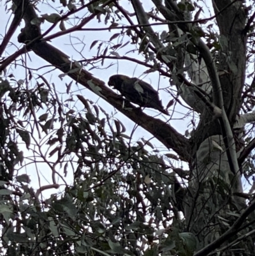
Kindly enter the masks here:
[[[129, 5], [128, 1], [122, 1], [121, 3], [123, 3], [123, 7], [126, 10], [131, 11], [131, 6]], [[145, 3], [145, 1], [143, 1], [143, 3]], [[145, 10], [150, 11], [150, 9], [152, 8], [152, 3], [150, 3], [150, 1], [146, 1], [146, 4], [143, 4], [143, 7], [145, 8]], [[8, 26], [10, 26], [10, 22], [11, 22], [11, 11], [6, 13], [6, 11], [4, 11], [4, 8], [5, 8], [4, 1], [0, 1], [0, 22], [1, 24], [4, 24], [4, 26], [0, 26], [0, 43], [1, 43], [1, 38], [3, 38], [4, 34], [6, 33], [6, 29], [8, 29]], [[45, 14], [50, 15], [50, 13], [56, 13], [61, 9], [63, 8], [61, 7], [61, 4], [59, 4], [59, 1], [55, 1], [55, 3], [53, 3], [52, 1], [44, 1], [43, 4], [40, 4], [40, 7], [38, 8], [38, 10], [40, 10], [40, 12], [38, 12], [38, 15], [45, 15]], [[206, 9], [204, 9], [204, 11], [206, 12]], [[85, 14], [86, 14], [86, 11], [84, 11], [84, 13], [79, 12], [77, 13], [76, 16], [82, 19], [82, 15], [85, 15]], [[207, 13], [205, 13], [205, 15], [207, 15]], [[203, 13], [202, 13], [202, 17], [203, 17]], [[102, 18], [101, 22], [98, 22], [98, 20], [93, 19], [85, 27], [87, 28], [88, 27], [91, 27], [91, 28], [105, 27], [103, 15], [101, 16], [101, 18]], [[65, 22], [66, 28], [73, 26], [75, 22], [77, 22], [77, 20], [78, 19], [66, 20]], [[117, 21], [117, 22], [119, 24], [124, 24], [123, 23], [124, 20]], [[17, 35], [20, 29], [23, 27], [23, 25], [18, 28], [13, 38], [11, 38], [11, 45], [9, 45], [8, 48], [6, 49], [6, 53], [5, 53], [6, 56], [13, 54], [13, 52], [15, 52], [17, 49], [20, 49], [22, 47], [22, 45], [17, 42]], [[42, 25], [42, 29], [43, 29], [42, 32], [46, 31], [48, 27], [50, 27], [51, 25], [52, 24], [45, 21]], [[159, 33], [162, 33], [164, 29], [167, 30], [167, 28], [164, 26], [157, 26], [156, 28], [154, 27], [154, 29], [157, 29]], [[54, 34], [57, 31], [59, 31], [58, 26], [55, 27], [55, 29], [51, 31], [50, 34]], [[108, 41], [114, 33], [119, 33], [119, 32], [120, 31], [118, 30], [113, 30], [110, 32], [109, 31], [78, 31], [65, 36], [61, 36], [59, 38], [55, 38], [54, 40], [51, 40], [48, 43], [59, 48], [60, 50], [62, 50], [62, 52], [65, 52], [71, 59], [78, 61], [84, 58], [89, 59], [96, 56], [98, 45], [95, 45], [90, 50], [90, 47], [93, 41], [95, 40], [98, 40], [99, 42]], [[124, 38], [124, 42], [125, 41], [128, 41], [128, 37]], [[113, 42], [117, 43], [117, 39], [113, 40]], [[120, 56], [124, 56], [128, 52], [128, 55], [127, 55], [128, 57], [134, 57], [136, 59], [140, 59], [141, 61], [143, 61], [143, 56], [139, 56], [137, 51], [130, 52], [133, 49], [135, 49], [135, 46], [129, 44], [126, 47], [118, 50], [118, 54], [120, 54]], [[110, 51], [111, 50], [108, 50], [108, 53]], [[48, 67], [48, 63], [46, 63], [40, 57], [33, 54], [33, 52], [29, 52], [29, 54], [26, 54], [25, 56], [23, 56], [23, 58], [26, 61], [27, 66], [29, 66], [29, 68], [33, 68], [34, 77], [37, 77], [37, 74], [41, 74], [41, 75], [44, 75], [45, 78], [47, 78], [50, 84], [54, 83], [57, 91], [59, 92], [59, 97], [63, 101], [67, 100], [70, 97], [70, 95], [66, 94], [66, 86], [65, 86], [65, 84], [69, 84], [69, 82], [71, 82], [71, 79], [69, 79], [68, 76], [65, 76], [62, 78], [59, 77], [59, 75], [61, 75], [61, 72], [59, 72], [58, 70], [53, 71], [52, 67]], [[113, 64], [113, 65], [110, 66], [109, 68], [105, 68], [110, 64]], [[41, 66], [44, 66], [44, 68], [41, 68]], [[89, 68], [91, 68], [91, 66], [85, 66], [86, 70], [89, 70]], [[171, 96], [170, 94], [165, 93], [165, 91], [163, 91], [163, 88], [169, 88], [169, 89], [175, 89], [175, 88], [170, 87], [170, 83], [168, 79], [159, 77], [157, 72], [144, 75], [143, 72], [145, 71], [146, 71], [145, 67], [138, 66], [135, 63], [130, 63], [130, 62], [128, 63], [127, 61], [123, 61], [123, 60], [114, 60], [114, 59], [107, 60], [106, 59], [103, 67], [100, 66], [100, 64], [98, 64], [98, 68], [94, 68], [90, 72], [94, 75], [94, 77], [97, 77], [100, 80], [105, 81], [106, 84], [107, 84], [108, 78], [111, 75], [115, 75], [116, 73], [128, 75], [129, 77], [139, 77], [140, 79], [145, 80], [149, 84], [152, 84], [152, 86], [154, 86], [155, 89], [157, 87], [161, 89], [159, 90], [159, 95], [163, 102], [163, 105], [166, 106], [167, 103], [171, 100]], [[11, 68], [10, 67], [8, 68], [8, 73], [13, 73], [17, 80], [25, 79], [26, 72], [27, 70], [25, 70], [21, 66], [17, 66], [16, 69], [14, 69], [13, 66], [11, 66]], [[36, 80], [33, 80], [33, 82], [29, 84], [29, 86], [31, 87], [35, 86], [35, 81]], [[108, 113], [115, 112], [113, 107], [108, 103], [106, 103], [105, 100], [103, 100], [102, 98], [99, 98], [96, 94], [92, 93], [88, 89], [85, 89], [85, 87], [75, 84], [75, 82], [73, 82], [72, 84], [71, 92], [74, 95], [73, 98], [75, 98], [75, 94], [82, 94], [84, 98], [90, 99], [93, 102], [97, 102], [98, 105], [100, 105], [101, 107], [103, 107], [103, 109], [106, 110], [106, 112]], [[72, 103], [73, 102], [67, 102], [66, 104], [72, 104]], [[72, 107], [72, 106], [69, 105], [69, 107]], [[83, 105], [82, 103], [75, 102], [75, 107], [77, 107], [78, 109], [82, 109]], [[44, 114], [45, 111], [46, 109], [40, 110], [37, 113], [37, 115], [40, 116], [41, 114]], [[145, 112], [147, 114], [150, 114], [151, 116], [157, 116], [158, 114], [156, 111], [149, 110], [149, 109], [145, 110]], [[179, 105], [177, 109], [175, 109], [175, 112], [171, 120], [168, 121], [168, 123], [170, 123], [171, 126], [173, 126], [173, 128], [175, 128], [178, 132], [182, 134], [186, 132], [188, 125], [190, 124], [190, 121], [192, 119], [192, 116], [186, 117], [187, 112], [188, 110], [186, 108]], [[170, 114], [171, 114], [171, 108], [170, 108]], [[120, 119], [120, 121], [124, 124], [124, 126], [126, 126], [126, 129], [127, 129], [126, 134], [128, 135], [133, 131], [134, 127], [136, 126], [135, 123], [130, 121], [126, 116], [122, 115], [121, 113], [115, 114], [115, 118]], [[157, 118], [162, 118], [167, 121], [166, 116], [160, 116]], [[192, 126], [189, 126], [189, 130], [191, 129], [192, 129]], [[142, 128], [140, 127], [136, 128], [136, 131], [133, 134], [133, 141], [139, 140], [142, 137], [145, 140], [150, 140], [153, 138], [150, 133], [143, 130]], [[150, 140], [150, 142], [152, 142], [152, 144], [154, 144], [159, 149], [160, 153], [162, 154], [168, 153], [168, 149], [166, 149], [166, 147], [164, 147], [161, 144], [161, 142], [159, 142], [158, 140], [152, 139]], [[20, 141], [19, 149], [24, 151], [25, 156], [33, 157], [33, 152], [27, 151], [22, 141]], [[45, 151], [46, 150], [47, 148], [45, 147]], [[54, 161], [54, 157], [49, 158], [49, 160]], [[19, 175], [22, 173], [28, 174], [32, 180], [31, 186], [33, 186], [34, 188], [38, 188], [40, 185], [43, 186], [45, 184], [52, 183], [50, 179], [52, 171], [47, 167], [47, 165], [45, 165], [44, 163], [39, 163], [38, 165], [33, 165], [33, 164], [25, 165], [25, 163], [26, 163], [26, 160], [24, 160], [24, 166], [20, 166], [20, 170], [18, 170], [18, 174]], [[182, 165], [182, 163], [176, 163], [176, 164]], [[177, 167], [180, 167], [180, 166], [177, 166]], [[40, 174], [40, 181], [38, 179], [38, 174]], [[67, 183], [72, 181], [72, 173], [69, 173], [69, 175], [70, 176], [66, 177]], [[63, 184], [60, 179], [59, 179], [59, 183]], [[61, 186], [58, 191], [61, 192], [63, 189], [64, 189], [64, 186]], [[46, 193], [43, 193], [43, 195], [47, 197], [48, 195], [50, 195], [50, 193], [56, 193], [56, 190], [49, 190]]]

